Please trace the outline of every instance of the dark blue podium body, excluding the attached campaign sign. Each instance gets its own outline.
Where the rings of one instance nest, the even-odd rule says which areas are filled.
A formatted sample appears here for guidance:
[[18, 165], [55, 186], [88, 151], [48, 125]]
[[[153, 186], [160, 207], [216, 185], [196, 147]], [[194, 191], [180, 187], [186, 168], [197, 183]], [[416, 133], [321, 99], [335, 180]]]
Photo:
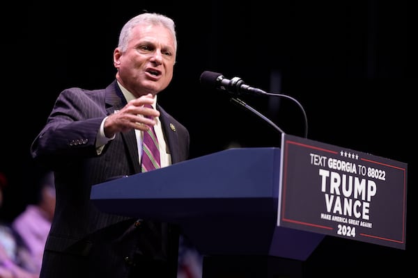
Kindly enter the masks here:
[[227, 149], [100, 183], [91, 199], [107, 213], [179, 224], [210, 264], [304, 261], [324, 235], [277, 226], [279, 170], [279, 148]]

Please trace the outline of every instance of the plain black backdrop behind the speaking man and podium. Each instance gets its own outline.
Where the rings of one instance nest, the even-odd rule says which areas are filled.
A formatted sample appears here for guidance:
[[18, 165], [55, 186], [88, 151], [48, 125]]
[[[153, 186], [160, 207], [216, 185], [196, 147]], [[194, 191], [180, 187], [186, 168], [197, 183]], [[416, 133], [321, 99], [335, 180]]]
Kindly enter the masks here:
[[[42, 169], [33, 165], [29, 146], [59, 92], [111, 83], [118, 32], [142, 10], [176, 22], [175, 74], [159, 101], [189, 129], [192, 158], [231, 143], [281, 143], [278, 131], [232, 104], [226, 92], [201, 88], [199, 77], [210, 70], [297, 99], [307, 113], [309, 139], [408, 163], [406, 250], [327, 237], [305, 263], [307, 275], [402, 276], [414, 270], [417, 79], [415, 12], [406, 1], [10, 3], [1, 19], [0, 172], [9, 180], [3, 218], [33, 201]], [[294, 102], [241, 97], [286, 133], [304, 135]]]

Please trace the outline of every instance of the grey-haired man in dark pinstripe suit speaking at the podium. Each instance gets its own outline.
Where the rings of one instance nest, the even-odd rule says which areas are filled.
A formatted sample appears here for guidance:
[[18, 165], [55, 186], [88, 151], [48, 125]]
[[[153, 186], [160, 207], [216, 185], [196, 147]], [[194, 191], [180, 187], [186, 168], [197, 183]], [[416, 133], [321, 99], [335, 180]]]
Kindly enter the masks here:
[[63, 90], [33, 141], [33, 158], [54, 170], [56, 186], [41, 278], [176, 277], [175, 225], [103, 213], [90, 199], [93, 185], [141, 172], [148, 129], [161, 167], [189, 156], [189, 132], [157, 104], [173, 77], [174, 26], [155, 13], [130, 19], [113, 54], [116, 80], [102, 90]]

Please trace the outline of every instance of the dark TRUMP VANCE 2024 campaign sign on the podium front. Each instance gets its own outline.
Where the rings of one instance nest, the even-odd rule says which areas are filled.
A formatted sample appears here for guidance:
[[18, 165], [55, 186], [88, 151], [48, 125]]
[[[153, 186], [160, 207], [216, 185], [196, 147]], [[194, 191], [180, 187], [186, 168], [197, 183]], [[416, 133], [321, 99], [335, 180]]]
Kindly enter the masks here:
[[284, 134], [277, 226], [405, 250], [407, 168]]

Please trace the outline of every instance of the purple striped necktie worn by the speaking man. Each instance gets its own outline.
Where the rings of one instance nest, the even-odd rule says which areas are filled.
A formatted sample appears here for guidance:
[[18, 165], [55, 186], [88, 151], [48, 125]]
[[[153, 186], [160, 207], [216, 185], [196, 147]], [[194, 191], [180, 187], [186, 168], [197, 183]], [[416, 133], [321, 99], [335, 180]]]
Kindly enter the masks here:
[[[145, 107], [153, 108], [150, 104], [146, 104]], [[150, 126], [148, 131], [144, 131], [141, 159], [141, 172], [148, 172], [160, 168], [160, 150], [154, 126]]]

